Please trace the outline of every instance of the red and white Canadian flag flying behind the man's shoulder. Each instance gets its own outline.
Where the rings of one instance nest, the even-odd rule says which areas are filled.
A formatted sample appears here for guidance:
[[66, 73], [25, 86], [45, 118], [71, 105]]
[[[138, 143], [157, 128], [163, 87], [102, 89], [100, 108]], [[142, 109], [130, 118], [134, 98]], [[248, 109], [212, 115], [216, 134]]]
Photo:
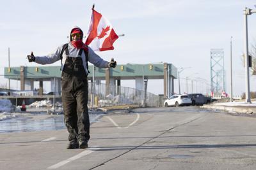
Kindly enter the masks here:
[[113, 43], [118, 39], [109, 20], [92, 8], [85, 44], [94, 51], [114, 50]]

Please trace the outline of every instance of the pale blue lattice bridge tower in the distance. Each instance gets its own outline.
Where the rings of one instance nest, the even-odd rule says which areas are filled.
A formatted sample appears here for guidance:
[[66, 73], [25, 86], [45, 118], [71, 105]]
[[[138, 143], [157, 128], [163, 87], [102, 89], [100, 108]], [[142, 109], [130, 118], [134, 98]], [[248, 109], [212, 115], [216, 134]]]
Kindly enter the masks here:
[[221, 95], [226, 92], [223, 49], [211, 49], [211, 92]]

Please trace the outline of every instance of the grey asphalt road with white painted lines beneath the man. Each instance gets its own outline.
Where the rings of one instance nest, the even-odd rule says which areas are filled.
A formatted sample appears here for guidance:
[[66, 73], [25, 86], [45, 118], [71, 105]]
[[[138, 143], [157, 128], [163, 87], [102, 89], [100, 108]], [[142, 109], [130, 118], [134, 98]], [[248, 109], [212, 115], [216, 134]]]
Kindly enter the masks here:
[[67, 150], [65, 130], [0, 134], [0, 169], [256, 169], [255, 122], [193, 106], [114, 112], [85, 150]]

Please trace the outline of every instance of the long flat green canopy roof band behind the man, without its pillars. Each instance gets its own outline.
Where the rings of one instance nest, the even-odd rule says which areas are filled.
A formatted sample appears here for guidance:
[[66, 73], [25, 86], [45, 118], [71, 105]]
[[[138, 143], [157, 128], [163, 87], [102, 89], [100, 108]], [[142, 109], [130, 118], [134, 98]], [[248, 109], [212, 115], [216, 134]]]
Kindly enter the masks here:
[[[120, 80], [131, 80], [138, 76], [144, 76], [148, 79], [163, 79], [164, 69], [168, 70], [173, 78], [177, 78], [177, 68], [173, 64], [118, 64], [115, 68], [110, 69], [110, 77]], [[4, 78], [20, 80], [21, 67], [4, 67]], [[93, 66], [89, 66], [90, 74], [88, 79], [92, 78]], [[97, 80], [105, 80], [106, 69], [95, 67], [95, 78]], [[24, 67], [24, 78], [33, 78], [35, 80], [47, 80], [52, 77], [61, 77], [60, 66], [38, 66]]]

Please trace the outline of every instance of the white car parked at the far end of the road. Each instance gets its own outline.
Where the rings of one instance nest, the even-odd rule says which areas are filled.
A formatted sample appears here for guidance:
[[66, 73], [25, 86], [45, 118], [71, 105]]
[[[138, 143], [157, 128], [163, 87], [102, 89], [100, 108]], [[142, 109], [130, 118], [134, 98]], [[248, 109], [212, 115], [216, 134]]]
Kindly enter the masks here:
[[186, 94], [175, 94], [171, 96], [170, 98], [166, 99], [164, 101], [164, 106], [181, 106], [181, 105], [186, 105], [189, 106], [191, 105], [191, 99], [188, 97]]

